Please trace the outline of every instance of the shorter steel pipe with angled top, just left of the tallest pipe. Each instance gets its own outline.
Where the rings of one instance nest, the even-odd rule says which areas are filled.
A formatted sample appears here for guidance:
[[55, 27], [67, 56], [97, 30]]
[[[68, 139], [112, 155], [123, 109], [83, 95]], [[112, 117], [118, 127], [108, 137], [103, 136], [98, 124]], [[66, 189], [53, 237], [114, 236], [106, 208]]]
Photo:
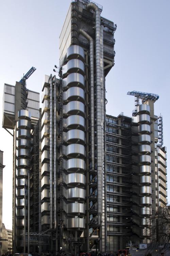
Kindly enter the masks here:
[[83, 29], [79, 29], [90, 42], [90, 122], [91, 122], [91, 167], [95, 169], [95, 117], [94, 117], [94, 42]]

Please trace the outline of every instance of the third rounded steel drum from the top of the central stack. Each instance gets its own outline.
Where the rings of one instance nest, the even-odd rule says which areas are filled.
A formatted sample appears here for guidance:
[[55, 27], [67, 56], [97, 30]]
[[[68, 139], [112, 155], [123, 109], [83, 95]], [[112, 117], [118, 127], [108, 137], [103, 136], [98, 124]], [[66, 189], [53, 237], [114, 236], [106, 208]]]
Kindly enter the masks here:
[[78, 86], [84, 88], [84, 76], [79, 73], [71, 73], [62, 81], [63, 88], [66, 86]]

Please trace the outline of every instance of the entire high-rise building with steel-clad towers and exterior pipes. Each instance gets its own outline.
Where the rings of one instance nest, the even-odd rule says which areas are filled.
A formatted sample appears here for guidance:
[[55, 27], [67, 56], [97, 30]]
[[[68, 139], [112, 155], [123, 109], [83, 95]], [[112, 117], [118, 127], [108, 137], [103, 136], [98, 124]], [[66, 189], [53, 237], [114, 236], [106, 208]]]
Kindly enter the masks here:
[[106, 115], [116, 25], [101, 12], [90, 1], [70, 4], [60, 79], [45, 75], [41, 109], [22, 83], [4, 86], [3, 127], [14, 138], [14, 252], [116, 252], [129, 241], [150, 243], [152, 211], [166, 205], [158, 96], [131, 92], [132, 118]]

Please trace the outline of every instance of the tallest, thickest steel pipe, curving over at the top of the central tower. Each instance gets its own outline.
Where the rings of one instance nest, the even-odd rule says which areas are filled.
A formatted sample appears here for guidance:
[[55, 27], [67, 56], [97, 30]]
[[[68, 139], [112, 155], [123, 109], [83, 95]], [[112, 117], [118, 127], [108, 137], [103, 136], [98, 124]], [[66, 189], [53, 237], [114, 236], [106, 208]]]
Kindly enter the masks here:
[[[95, 3], [88, 3], [87, 10], [96, 13], [96, 128], [97, 128], [97, 190], [98, 190], [98, 224], [101, 225], [102, 214], [102, 126], [101, 126], [101, 41], [100, 41], [100, 10]], [[101, 229], [101, 228], [100, 228]], [[101, 231], [101, 230], [100, 230]], [[100, 243], [101, 251], [101, 243]]]

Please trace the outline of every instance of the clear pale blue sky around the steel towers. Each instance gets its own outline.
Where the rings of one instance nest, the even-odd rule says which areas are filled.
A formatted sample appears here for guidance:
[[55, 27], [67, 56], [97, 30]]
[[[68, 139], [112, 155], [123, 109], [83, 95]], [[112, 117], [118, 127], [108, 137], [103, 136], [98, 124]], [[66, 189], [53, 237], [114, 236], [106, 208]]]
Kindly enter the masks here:
[[[71, 0], [3, 0], [0, 6], [0, 109], [4, 83], [15, 85], [32, 66], [27, 88], [40, 92], [44, 74], [59, 65], [59, 35]], [[159, 95], [155, 113], [163, 115], [164, 144], [170, 141], [170, 1], [96, 0], [102, 16], [117, 24], [115, 66], [106, 77], [106, 113], [131, 116], [137, 90]], [[41, 97], [40, 97], [41, 99]], [[2, 111], [0, 113], [2, 124]], [[12, 136], [0, 128], [4, 151], [3, 222], [12, 228]], [[169, 154], [167, 154], [169, 155]], [[169, 172], [169, 170], [168, 170]], [[168, 175], [170, 201], [170, 175]]]

